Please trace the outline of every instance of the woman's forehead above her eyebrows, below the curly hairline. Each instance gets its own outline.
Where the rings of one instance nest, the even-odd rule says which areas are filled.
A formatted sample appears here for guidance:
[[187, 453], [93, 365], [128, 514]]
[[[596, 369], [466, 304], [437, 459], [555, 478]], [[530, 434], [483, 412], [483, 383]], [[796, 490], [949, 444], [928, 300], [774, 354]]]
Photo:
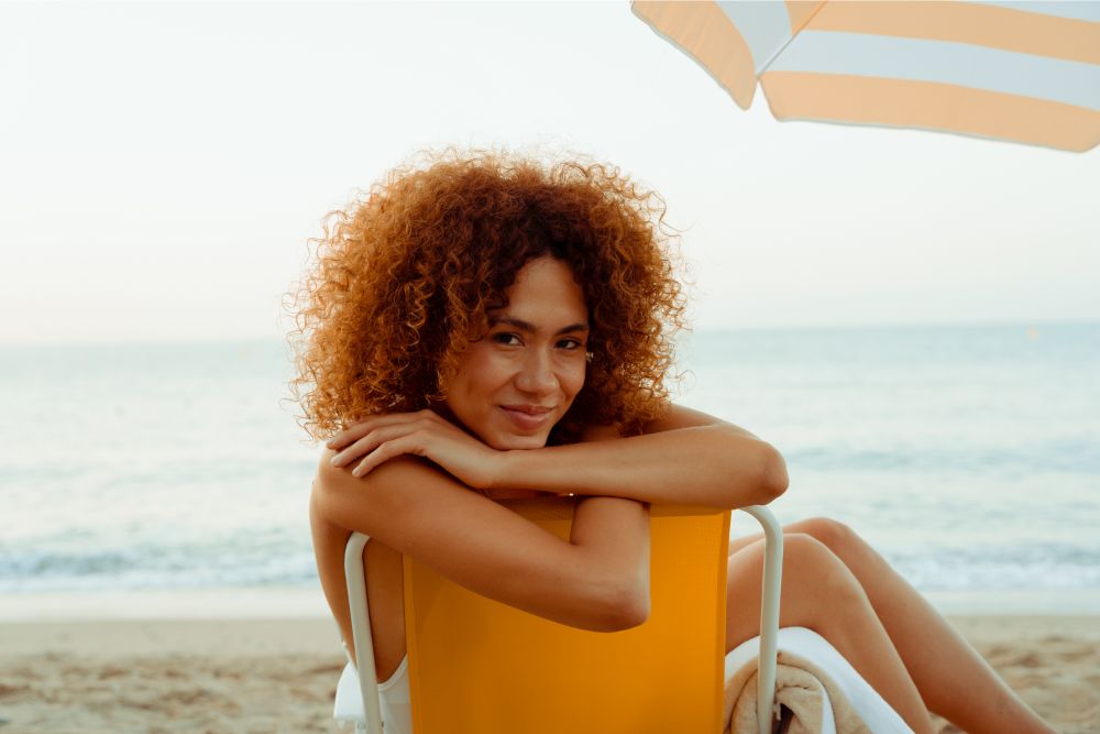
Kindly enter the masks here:
[[573, 280], [573, 269], [560, 260], [540, 258], [524, 265], [507, 296], [508, 305], [490, 311], [491, 318], [507, 316], [539, 327], [588, 320], [584, 291]]

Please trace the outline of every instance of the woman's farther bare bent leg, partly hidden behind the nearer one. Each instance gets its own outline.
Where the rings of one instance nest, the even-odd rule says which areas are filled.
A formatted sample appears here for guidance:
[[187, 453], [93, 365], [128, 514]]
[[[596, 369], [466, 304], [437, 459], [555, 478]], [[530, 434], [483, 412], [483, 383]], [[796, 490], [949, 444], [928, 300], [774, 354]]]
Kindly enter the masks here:
[[[972, 733], [1054, 731], [913, 587], [847, 526], [813, 518], [792, 523], [784, 530], [816, 538], [851, 570], [932, 711]], [[735, 541], [730, 550], [751, 541], [751, 538]]]

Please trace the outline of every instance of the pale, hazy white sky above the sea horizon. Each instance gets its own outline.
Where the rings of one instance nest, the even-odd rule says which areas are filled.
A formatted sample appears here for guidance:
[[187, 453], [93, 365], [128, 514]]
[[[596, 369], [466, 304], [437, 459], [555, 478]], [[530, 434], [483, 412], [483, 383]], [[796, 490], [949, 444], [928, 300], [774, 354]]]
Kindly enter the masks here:
[[277, 338], [417, 151], [658, 190], [696, 329], [1100, 320], [1100, 152], [779, 123], [608, 3], [0, 3], [0, 344]]

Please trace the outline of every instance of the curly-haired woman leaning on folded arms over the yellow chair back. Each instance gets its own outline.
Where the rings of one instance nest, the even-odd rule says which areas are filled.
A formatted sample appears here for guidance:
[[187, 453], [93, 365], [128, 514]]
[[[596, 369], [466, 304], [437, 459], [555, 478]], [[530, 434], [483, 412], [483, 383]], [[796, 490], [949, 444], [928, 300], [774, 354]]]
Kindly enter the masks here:
[[[613, 631], [648, 614], [648, 504], [740, 507], [787, 489], [774, 448], [669, 403], [683, 300], [663, 202], [617, 169], [446, 154], [337, 212], [299, 293], [295, 383], [322, 457], [310, 516], [351, 640], [343, 548], [367, 593], [387, 731], [408, 731], [400, 556], [486, 596]], [[305, 390], [302, 390], [305, 388]], [[583, 496], [570, 541], [494, 500]], [[781, 620], [828, 639], [915, 732], [1049, 732], [870, 547], [787, 528]], [[759, 539], [730, 544], [726, 649], [757, 633]], [[350, 650], [353, 655], [354, 650]]]

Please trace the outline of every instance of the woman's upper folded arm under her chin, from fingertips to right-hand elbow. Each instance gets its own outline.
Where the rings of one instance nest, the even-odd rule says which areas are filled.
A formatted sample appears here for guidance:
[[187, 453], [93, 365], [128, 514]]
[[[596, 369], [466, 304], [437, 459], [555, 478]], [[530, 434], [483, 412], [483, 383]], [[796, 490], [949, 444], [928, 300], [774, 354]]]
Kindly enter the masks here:
[[[491, 491], [630, 497], [641, 502], [744, 507], [787, 490], [779, 451], [743, 428], [676, 405], [622, 438], [609, 428], [581, 443], [497, 451], [431, 410], [367, 418], [329, 442], [336, 463], [365, 476], [402, 454], [432, 460], [470, 486]], [[361, 459], [361, 461], [360, 461]]]

